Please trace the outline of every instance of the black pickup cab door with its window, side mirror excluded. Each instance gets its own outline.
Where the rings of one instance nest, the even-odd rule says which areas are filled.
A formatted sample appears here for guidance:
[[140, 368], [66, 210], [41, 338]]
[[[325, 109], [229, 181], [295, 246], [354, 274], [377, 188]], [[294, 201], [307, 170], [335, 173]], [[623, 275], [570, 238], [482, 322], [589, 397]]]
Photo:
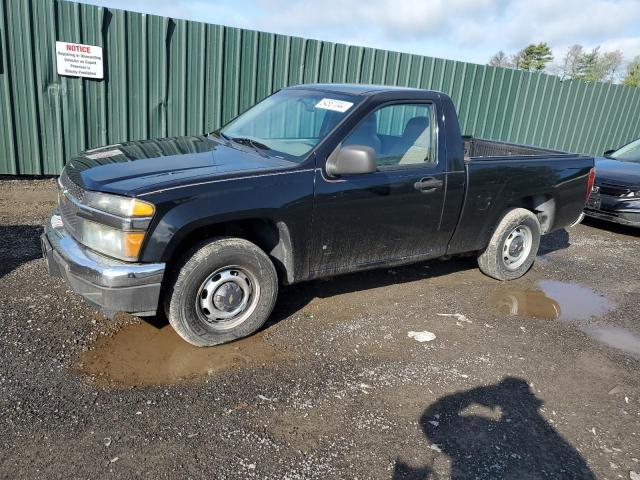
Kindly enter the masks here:
[[380, 106], [346, 145], [373, 148], [378, 169], [336, 178], [316, 169], [312, 276], [443, 255], [451, 232], [440, 230], [446, 156], [436, 104]]

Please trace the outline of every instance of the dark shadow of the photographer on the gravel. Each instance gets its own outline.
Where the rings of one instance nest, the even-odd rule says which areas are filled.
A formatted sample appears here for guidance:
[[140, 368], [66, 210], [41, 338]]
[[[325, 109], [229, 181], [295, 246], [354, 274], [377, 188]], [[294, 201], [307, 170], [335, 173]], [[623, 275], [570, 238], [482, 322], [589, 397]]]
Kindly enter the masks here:
[[[595, 475], [585, 459], [539, 413], [543, 405], [520, 378], [456, 392], [423, 413], [420, 425], [432, 450], [451, 460], [451, 478], [584, 479]], [[394, 479], [437, 478], [431, 466], [396, 462]]]

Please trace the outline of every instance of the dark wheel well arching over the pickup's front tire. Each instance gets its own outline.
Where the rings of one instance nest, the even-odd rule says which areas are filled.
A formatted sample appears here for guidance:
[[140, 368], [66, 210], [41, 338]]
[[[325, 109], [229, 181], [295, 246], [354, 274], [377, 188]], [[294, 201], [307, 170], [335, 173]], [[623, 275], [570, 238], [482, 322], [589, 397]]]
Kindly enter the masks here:
[[172, 264], [191, 246], [213, 237], [237, 237], [255, 243], [269, 256], [286, 283], [293, 283], [295, 278], [293, 251], [287, 225], [284, 222], [273, 222], [259, 218], [196, 228], [175, 245], [167, 263]]

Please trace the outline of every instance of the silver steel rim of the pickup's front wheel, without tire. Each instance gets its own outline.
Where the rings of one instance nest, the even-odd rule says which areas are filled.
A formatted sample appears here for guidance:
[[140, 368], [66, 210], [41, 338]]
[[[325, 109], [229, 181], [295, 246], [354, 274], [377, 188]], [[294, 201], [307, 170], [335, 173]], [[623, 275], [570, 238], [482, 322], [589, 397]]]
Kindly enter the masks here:
[[220, 268], [198, 289], [196, 311], [214, 330], [230, 330], [255, 310], [260, 285], [255, 276], [238, 266]]

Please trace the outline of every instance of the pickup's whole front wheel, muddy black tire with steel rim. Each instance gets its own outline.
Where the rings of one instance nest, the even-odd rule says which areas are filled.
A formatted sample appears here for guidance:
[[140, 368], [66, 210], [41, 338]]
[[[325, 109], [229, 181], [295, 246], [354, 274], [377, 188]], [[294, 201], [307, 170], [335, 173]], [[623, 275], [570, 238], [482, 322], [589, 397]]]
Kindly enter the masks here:
[[[238, 284], [244, 285], [246, 290], [238, 287], [233, 277], [239, 278]], [[216, 287], [217, 292], [224, 285], [233, 285], [231, 288], [235, 289], [229, 296], [220, 297], [223, 307], [232, 308], [224, 302], [227, 298], [233, 299], [236, 292], [240, 292], [236, 302], [238, 297], [242, 302], [247, 301], [241, 314], [231, 319], [208, 317], [215, 315], [203, 307], [203, 303], [208, 298], [207, 306], [218, 308], [218, 304], [213, 303], [212, 285], [215, 286], [216, 281], [222, 282]], [[212, 286], [211, 292], [207, 291], [209, 286]], [[240, 238], [216, 238], [197, 244], [178, 263], [164, 295], [164, 306], [169, 323], [178, 335], [192, 345], [208, 347], [246, 337], [258, 330], [269, 318], [277, 294], [276, 270], [258, 246]], [[215, 312], [226, 314], [222, 308]]]

